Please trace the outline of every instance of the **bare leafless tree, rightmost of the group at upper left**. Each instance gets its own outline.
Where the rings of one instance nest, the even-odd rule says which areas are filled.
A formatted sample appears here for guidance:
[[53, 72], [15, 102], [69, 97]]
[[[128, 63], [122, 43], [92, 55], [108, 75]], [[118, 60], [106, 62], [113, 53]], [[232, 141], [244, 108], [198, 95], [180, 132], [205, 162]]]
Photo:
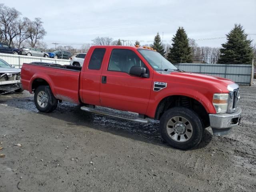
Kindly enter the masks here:
[[34, 47], [36, 43], [43, 39], [47, 34], [42, 24], [43, 22], [41, 18], [35, 18], [34, 21], [28, 23], [28, 34], [31, 47]]

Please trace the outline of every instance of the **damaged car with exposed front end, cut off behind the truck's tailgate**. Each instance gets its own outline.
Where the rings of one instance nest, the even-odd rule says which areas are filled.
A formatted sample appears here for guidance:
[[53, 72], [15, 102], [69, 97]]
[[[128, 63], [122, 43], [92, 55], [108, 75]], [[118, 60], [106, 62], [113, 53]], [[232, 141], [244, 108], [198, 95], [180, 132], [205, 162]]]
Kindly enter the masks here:
[[11, 91], [21, 93], [20, 69], [0, 59], [0, 95]]

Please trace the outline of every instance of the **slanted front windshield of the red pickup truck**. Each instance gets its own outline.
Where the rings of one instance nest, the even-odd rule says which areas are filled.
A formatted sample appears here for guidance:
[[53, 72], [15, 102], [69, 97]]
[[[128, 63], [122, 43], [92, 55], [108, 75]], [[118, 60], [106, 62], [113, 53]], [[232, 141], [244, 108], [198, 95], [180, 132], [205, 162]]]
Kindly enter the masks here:
[[164, 58], [160, 53], [152, 50], [138, 49], [138, 52], [147, 60], [147, 62], [156, 71], [163, 70], [177, 70], [177, 68], [166, 58]]

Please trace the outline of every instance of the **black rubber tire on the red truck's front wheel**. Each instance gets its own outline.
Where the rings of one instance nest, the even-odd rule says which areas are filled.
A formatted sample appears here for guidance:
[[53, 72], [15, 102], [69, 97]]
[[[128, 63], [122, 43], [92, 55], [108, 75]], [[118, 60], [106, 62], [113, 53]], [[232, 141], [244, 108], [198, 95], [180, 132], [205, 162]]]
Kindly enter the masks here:
[[[188, 120], [186, 123], [184, 123], [182, 125], [185, 127], [184, 128], [185, 132], [183, 133], [183, 137], [185, 138], [185, 141], [178, 142], [178, 138], [179, 137], [181, 138], [181, 135], [176, 132], [177, 129], [175, 130], [175, 128], [172, 128], [172, 126], [168, 126], [168, 128], [167, 128], [168, 123], [169, 124], [173, 123], [174, 127], [176, 126], [177, 123], [180, 123], [180, 118], [178, 118], [179, 119], [178, 122], [170, 122], [170, 120], [172, 120], [172, 118], [176, 118], [176, 117], [181, 117], [182, 120], [184, 120], [184, 119]], [[186, 127], [187, 123], [188, 123], [188, 125], [192, 126], [192, 131]], [[182, 129], [182, 126], [180, 126], [181, 129]], [[171, 132], [170, 134], [168, 133], [167, 129], [169, 130], [169, 133]], [[172, 132], [172, 130], [174, 130], [174, 131]], [[204, 127], [203, 127], [202, 121], [200, 120], [200, 118], [196, 114], [196, 112], [194, 112], [193, 110], [191, 110], [189, 108], [184, 108], [184, 107], [171, 108], [171, 109], [167, 110], [166, 112], [164, 112], [164, 114], [162, 115], [162, 117], [160, 119], [161, 136], [164, 139], [164, 141], [166, 141], [170, 146], [172, 146], [174, 148], [187, 150], [187, 149], [197, 146], [200, 143], [200, 141], [202, 140], [203, 132], [204, 132]], [[172, 136], [176, 136], [175, 134], [177, 135], [176, 139], [172, 138]], [[186, 138], [185, 134], [190, 134], [190, 136], [189, 137], [186, 136], [186, 137], [188, 137], [188, 138]]]

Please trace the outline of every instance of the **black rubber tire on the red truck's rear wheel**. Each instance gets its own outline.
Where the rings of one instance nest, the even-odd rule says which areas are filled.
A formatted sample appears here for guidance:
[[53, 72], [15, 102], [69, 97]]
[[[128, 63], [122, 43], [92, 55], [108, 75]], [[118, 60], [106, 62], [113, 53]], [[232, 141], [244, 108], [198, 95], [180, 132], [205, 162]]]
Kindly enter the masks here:
[[[42, 94], [42, 92], [45, 93], [44, 96], [47, 100], [47, 103], [44, 103], [45, 106], [43, 106], [44, 104], [42, 104], [40, 106], [40, 102], [42, 100], [40, 102], [37, 100], [38, 95]], [[52, 90], [51, 90], [50, 86], [44, 86], [44, 85], [38, 86], [38, 88], [36, 88], [36, 91], [35, 91], [35, 94], [34, 94], [34, 102], [36, 104], [36, 108], [39, 111], [45, 112], [45, 113], [52, 112], [53, 110], [56, 109], [56, 107], [58, 105], [58, 100], [52, 94]]]

